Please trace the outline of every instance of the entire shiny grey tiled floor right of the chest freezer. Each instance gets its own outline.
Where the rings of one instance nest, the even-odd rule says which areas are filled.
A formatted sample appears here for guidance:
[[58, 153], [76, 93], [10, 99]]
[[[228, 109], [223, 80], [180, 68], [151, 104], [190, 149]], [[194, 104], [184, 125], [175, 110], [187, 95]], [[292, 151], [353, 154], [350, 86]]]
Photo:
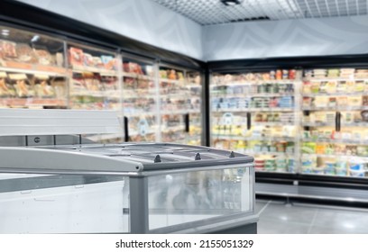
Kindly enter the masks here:
[[257, 201], [259, 234], [368, 234], [368, 209]]

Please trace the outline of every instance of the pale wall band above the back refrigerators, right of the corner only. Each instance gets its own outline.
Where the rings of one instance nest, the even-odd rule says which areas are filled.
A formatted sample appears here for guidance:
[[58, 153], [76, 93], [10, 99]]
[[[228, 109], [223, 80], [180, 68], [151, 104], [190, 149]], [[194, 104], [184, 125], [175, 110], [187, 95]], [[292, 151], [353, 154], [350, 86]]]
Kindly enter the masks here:
[[205, 60], [361, 54], [368, 16], [211, 25], [202, 43]]

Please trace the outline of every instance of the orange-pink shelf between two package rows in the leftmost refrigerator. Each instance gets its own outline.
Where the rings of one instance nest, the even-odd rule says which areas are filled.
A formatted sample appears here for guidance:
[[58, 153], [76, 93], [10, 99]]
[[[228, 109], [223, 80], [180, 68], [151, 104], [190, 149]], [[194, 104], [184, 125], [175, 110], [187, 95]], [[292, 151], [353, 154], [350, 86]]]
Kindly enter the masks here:
[[4, 65], [6, 65], [6, 67], [0, 67], [0, 71], [32, 75], [40, 74], [47, 76], [66, 76], [68, 73], [66, 68], [62, 67], [33, 65], [13, 61], [5, 61]]

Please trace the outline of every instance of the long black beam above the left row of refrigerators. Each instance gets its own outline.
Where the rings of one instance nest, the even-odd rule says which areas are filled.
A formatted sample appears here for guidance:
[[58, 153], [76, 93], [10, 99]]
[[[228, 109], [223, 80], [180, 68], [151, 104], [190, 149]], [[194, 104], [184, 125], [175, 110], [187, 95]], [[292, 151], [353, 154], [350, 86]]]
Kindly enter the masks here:
[[119, 48], [124, 52], [145, 58], [159, 59], [164, 63], [182, 67], [203, 68], [206, 66], [204, 62], [198, 59], [161, 49], [113, 31], [106, 31], [97, 26], [14, 0], [0, 1], [0, 21], [112, 49]]

